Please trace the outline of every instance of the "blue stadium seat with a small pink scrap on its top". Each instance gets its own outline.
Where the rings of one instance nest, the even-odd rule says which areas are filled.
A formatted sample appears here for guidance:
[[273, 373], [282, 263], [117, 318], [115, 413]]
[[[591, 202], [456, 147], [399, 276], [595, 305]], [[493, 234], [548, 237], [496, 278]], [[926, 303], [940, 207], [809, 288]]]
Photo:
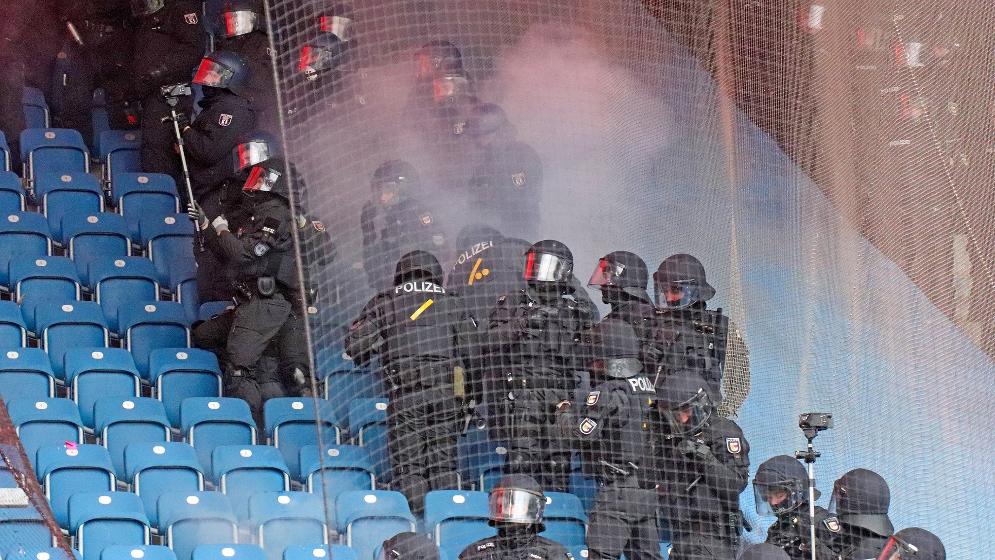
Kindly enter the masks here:
[[69, 497], [80, 491], [112, 492], [114, 467], [107, 450], [95, 445], [53, 444], [38, 448], [38, 477], [59, 526], [69, 530]]

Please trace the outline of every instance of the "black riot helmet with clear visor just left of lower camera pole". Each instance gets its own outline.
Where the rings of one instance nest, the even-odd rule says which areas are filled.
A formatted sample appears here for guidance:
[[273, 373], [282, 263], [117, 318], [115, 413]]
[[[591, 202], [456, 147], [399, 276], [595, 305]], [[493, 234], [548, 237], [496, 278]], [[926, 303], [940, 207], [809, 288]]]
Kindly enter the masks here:
[[[819, 497], [816, 490], [815, 497]], [[753, 478], [753, 499], [761, 517], [780, 515], [808, 502], [808, 472], [791, 456], [779, 455], [768, 459], [756, 469]]]

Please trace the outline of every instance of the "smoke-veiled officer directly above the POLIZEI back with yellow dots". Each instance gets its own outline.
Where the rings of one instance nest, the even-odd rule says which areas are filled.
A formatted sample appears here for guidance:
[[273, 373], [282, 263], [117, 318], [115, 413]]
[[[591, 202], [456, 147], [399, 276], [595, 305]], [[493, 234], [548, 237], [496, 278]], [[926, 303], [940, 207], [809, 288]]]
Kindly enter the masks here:
[[514, 126], [495, 103], [474, 106], [466, 133], [480, 153], [470, 181], [471, 199], [499, 229], [535, 235], [542, 200], [542, 162], [535, 150], [514, 138]]

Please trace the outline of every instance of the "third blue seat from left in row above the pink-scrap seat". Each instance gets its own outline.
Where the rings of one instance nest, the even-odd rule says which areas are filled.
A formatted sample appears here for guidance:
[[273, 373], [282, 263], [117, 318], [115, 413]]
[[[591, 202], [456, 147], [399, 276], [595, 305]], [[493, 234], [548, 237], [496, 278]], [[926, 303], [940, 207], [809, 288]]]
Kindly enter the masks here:
[[197, 450], [204, 472], [211, 474], [211, 454], [218, 446], [255, 446], [256, 423], [242, 399], [194, 397], [180, 404], [180, 429]]

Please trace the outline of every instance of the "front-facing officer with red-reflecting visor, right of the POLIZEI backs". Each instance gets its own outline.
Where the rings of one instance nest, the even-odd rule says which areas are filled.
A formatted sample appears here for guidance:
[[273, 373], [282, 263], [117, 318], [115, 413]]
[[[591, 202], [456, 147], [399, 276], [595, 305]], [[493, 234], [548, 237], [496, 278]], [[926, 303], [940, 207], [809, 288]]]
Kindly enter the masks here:
[[508, 472], [533, 475], [543, 488], [567, 491], [570, 449], [556, 429], [587, 367], [594, 317], [574, 295], [573, 255], [554, 240], [524, 255], [524, 289], [501, 295], [491, 310], [488, 350], [507, 363], [502, 403], [508, 427]]

